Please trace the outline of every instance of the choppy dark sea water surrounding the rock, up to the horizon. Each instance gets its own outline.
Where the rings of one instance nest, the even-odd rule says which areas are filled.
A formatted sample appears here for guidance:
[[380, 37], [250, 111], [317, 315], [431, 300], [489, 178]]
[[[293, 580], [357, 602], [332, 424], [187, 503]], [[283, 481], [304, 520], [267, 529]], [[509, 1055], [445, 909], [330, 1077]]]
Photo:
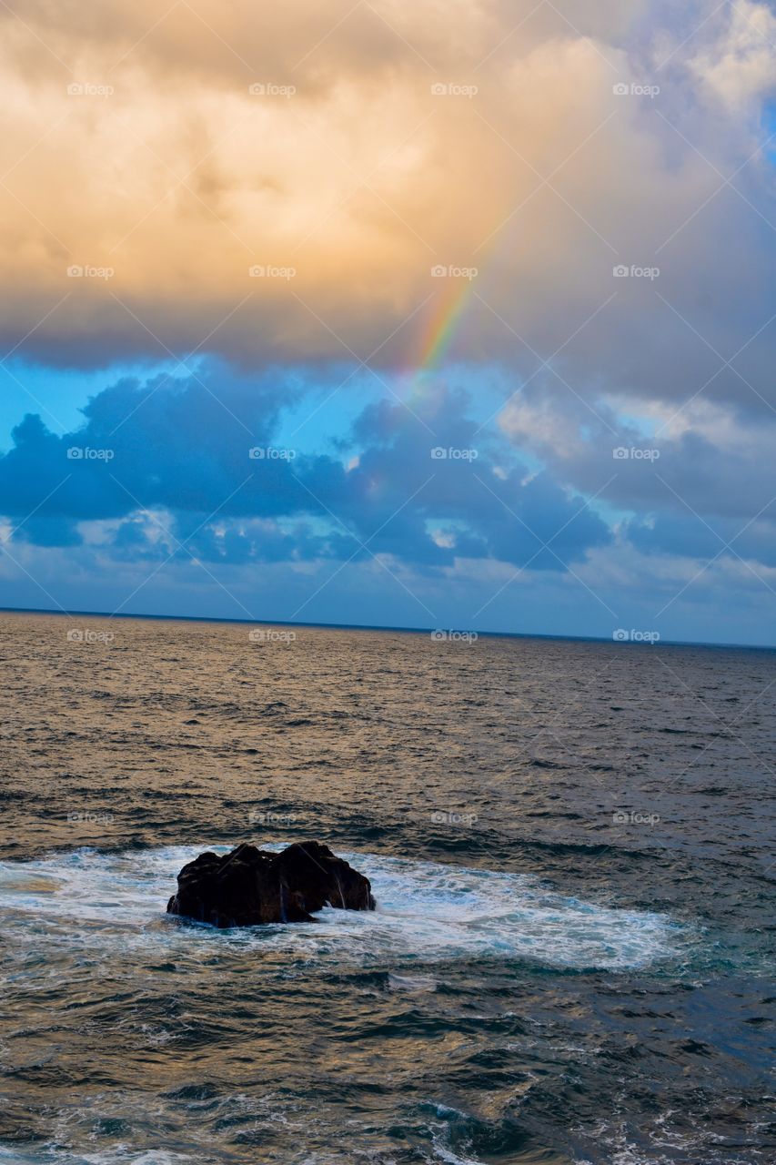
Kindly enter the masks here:
[[[0, 617], [0, 1163], [774, 1160], [776, 654], [248, 630]], [[305, 838], [374, 915], [164, 915]]]

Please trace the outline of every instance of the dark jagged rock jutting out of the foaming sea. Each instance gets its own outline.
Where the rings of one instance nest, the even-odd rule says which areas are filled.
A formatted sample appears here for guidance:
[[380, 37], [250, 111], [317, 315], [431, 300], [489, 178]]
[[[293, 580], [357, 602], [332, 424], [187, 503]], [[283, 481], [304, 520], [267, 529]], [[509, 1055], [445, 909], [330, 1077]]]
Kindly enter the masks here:
[[167, 910], [213, 926], [255, 926], [313, 923], [325, 905], [374, 910], [369, 880], [327, 846], [303, 841], [280, 854], [255, 846], [200, 854], [178, 874]]

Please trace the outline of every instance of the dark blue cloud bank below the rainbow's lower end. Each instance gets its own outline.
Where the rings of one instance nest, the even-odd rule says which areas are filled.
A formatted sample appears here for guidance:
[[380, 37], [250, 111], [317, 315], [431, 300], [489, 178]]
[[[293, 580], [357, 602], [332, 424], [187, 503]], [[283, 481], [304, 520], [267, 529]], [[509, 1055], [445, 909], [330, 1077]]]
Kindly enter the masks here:
[[514, 457], [505, 469], [506, 444], [478, 437], [461, 391], [368, 405], [340, 440], [359, 450], [347, 468], [277, 439], [287, 380], [211, 361], [172, 384], [119, 381], [72, 433], [28, 416], [0, 458], [0, 513], [35, 544], [230, 563], [386, 555], [432, 570], [466, 556], [557, 571], [611, 537], [546, 475]]

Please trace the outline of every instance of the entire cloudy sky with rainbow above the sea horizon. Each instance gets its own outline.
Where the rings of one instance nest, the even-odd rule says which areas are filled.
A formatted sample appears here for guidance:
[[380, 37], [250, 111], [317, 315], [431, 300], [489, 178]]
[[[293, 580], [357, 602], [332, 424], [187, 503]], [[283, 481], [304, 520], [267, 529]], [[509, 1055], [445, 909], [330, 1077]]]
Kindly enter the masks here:
[[0, 24], [0, 606], [776, 644], [773, 5]]

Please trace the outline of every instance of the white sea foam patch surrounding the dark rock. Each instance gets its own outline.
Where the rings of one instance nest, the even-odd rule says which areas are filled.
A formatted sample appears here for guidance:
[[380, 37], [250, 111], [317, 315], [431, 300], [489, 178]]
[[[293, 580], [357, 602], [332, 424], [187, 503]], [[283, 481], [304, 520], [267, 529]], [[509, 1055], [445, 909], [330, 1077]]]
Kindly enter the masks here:
[[326, 909], [319, 924], [227, 932], [182, 926], [164, 915], [167, 899], [181, 867], [205, 848], [77, 850], [3, 862], [0, 904], [15, 924], [35, 922], [38, 934], [80, 937], [92, 948], [119, 937], [128, 946], [155, 947], [160, 959], [204, 953], [218, 942], [235, 953], [269, 946], [291, 961], [484, 956], [620, 970], [670, 956], [679, 938], [664, 915], [583, 902], [530, 877], [378, 854], [344, 855], [371, 878], [374, 913]]

